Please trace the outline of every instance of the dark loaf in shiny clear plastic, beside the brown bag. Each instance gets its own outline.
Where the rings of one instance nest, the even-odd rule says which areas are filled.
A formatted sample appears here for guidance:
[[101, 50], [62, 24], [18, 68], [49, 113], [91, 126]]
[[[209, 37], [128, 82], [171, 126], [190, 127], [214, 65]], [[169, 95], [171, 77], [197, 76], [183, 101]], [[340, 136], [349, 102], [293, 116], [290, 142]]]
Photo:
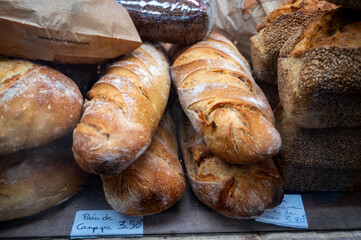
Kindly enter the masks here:
[[193, 44], [213, 25], [214, 0], [119, 0], [143, 41]]

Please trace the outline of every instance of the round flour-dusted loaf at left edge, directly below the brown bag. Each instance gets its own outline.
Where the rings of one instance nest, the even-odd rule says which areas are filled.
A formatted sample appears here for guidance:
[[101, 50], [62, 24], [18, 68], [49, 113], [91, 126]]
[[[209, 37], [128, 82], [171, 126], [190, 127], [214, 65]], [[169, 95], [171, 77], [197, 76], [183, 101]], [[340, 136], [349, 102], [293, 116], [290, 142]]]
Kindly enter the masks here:
[[0, 58], [0, 156], [70, 133], [82, 103], [76, 84], [60, 72]]

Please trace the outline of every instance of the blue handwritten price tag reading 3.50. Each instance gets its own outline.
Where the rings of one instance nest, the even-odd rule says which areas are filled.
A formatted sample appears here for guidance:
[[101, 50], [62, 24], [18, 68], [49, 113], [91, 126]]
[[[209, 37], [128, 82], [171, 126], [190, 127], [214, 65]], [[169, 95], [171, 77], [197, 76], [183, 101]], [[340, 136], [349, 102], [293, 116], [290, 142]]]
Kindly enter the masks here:
[[114, 210], [77, 211], [72, 238], [96, 236], [143, 236], [143, 217], [129, 217]]

